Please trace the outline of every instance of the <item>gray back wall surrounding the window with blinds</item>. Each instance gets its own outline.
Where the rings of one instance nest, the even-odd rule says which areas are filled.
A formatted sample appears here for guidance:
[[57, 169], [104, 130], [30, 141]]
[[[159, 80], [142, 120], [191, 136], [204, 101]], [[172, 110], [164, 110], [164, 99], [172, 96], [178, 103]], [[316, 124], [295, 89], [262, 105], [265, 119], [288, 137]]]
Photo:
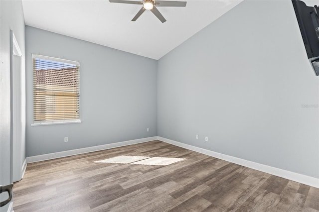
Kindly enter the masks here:
[[[156, 60], [29, 26], [25, 36], [26, 156], [157, 135]], [[82, 123], [31, 126], [31, 54], [81, 63]]]

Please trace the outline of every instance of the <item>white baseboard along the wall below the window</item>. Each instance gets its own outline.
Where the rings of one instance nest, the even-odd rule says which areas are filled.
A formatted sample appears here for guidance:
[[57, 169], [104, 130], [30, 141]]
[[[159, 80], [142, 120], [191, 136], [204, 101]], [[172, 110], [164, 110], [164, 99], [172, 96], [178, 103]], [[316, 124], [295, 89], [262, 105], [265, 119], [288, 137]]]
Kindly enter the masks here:
[[73, 150], [68, 150], [68, 151], [63, 151], [63, 152], [54, 152], [54, 153], [49, 153], [49, 154], [44, 154], [44, 155], [36, 155], [36, 156], [27, 157], [26, 162], [33, 163], [33, 162], [38, 162], [38, 161], [50, 160], [50, 159], [54, 159], [54, 158], [61, 158], [61, 157], [78, 155], [78, 154], [83, 154], [83, 153], [88, 153], [88, 152], [95, 152], [95, 151], [100, 151], [100, 150], [105, 150], [105, 149], [112, 149], [112, 148], [116, 148], [116, 147], [127, 146], [127, 145], [132, 145], [132, 144], [137, 144], [137, 143], [144, 143], [144, 142], [149, 142], [149, 141], [153, 141], [153, 140], [157, 140], [157, 136], [148, 137], [148, 138], [141, 138], [141, 139], [136, 139], [136, 140], [122, 141], [122, 142], [117, 142], [117, 143], [104, 144], [104, 145], [100, 145], [100, 146], [91, 146], [91, 147], [86, 147], [86, 148], [81, 148], [81, 149], [73, 149]]

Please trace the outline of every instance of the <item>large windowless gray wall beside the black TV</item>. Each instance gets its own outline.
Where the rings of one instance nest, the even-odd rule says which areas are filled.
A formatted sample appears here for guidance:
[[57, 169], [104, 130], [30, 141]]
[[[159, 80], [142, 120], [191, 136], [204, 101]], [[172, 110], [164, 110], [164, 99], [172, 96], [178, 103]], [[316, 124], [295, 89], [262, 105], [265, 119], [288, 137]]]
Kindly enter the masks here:
[[158, 135], [318, 178], [318, 80], [291, 1], [243, 1], [158, 61]]

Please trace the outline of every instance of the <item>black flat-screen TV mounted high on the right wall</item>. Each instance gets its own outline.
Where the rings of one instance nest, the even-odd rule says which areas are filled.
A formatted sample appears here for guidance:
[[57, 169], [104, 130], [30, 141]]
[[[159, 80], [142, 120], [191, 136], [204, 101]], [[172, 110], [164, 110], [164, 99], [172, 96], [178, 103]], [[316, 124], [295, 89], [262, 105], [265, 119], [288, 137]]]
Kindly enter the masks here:
[[301, 0], [292, 0], [292, 2], [309, 61], [319, 76], [319, 8], [317, 5], [307, 6]]

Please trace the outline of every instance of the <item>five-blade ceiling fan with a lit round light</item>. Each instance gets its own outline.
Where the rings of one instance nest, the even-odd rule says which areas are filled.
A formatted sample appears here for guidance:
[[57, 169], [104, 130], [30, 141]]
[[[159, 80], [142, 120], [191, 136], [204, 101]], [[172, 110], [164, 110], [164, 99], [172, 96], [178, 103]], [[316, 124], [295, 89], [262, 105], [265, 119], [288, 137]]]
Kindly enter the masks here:
[[157, 6], [186, 6], [186, 1], [168, 1], [168, 0], [142, 0], [142, 1], [131, 1], [131, 0], [109, 0], [112, 3], [130, 3], [130, 4], [141, 4], [143, 5], [140, 11], [134, 16], [132, 21], [136, 21], [145, 10], [151, 10], [155, 16], [157, 16], [163, 23], [166, 19], [162, 16], [160, 11], [156, 8]]

